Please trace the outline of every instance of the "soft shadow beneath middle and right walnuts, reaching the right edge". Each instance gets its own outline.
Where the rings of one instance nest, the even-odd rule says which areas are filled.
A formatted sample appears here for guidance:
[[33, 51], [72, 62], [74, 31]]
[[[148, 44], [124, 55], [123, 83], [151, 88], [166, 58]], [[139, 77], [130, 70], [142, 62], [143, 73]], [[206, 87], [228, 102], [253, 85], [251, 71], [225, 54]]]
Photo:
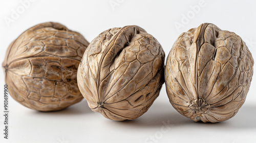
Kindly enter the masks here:
[[194, 122], [180, 113], [172, 105], [153, 104], [152, 107], [141, 117], [135, 120], [108, 121], [110, 124], [118, 124], [125, 127], [159, 128], [161, 126], [198, 126], [202, 128], [218, 129], [248, 129], [256, 128], [256, 105], [243, 105], [239, 112], [231, 119], [218, 123]]

